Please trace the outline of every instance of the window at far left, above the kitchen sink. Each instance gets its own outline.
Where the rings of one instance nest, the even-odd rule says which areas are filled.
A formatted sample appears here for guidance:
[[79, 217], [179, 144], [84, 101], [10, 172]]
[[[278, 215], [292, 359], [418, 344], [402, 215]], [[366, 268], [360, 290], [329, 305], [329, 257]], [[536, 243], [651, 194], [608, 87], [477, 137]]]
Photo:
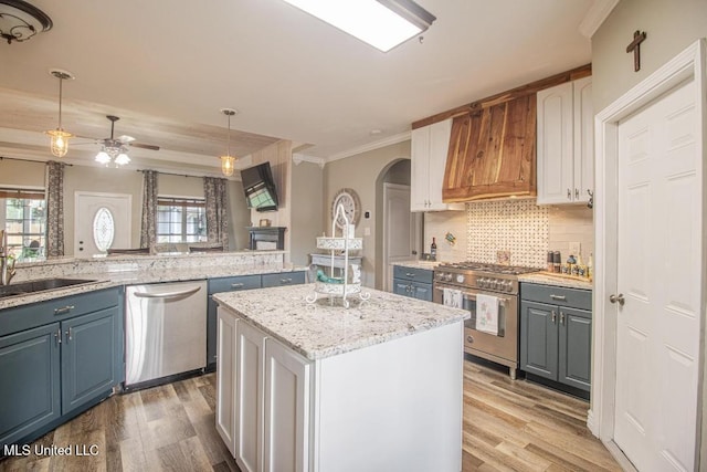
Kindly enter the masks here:
[[0, 189], [0, 222], [8, 233], [8, 252], [18, 261], [44, 256], [46, 201], [43, 190]]

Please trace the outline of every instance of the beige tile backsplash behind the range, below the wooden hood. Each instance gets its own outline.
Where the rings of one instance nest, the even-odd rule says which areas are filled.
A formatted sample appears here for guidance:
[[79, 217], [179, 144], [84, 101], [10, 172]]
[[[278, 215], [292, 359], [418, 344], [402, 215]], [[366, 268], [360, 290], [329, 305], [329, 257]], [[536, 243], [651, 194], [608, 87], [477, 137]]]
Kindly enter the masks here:
[[[594, 252], [593, 213], [584, 206], [479, 201], [467, 203], [466, 211], [429, 212], [424, 218], [425, 252], [435, 237], [439, 260], [445, 262], [496, 263], [497, 251], [510, 251], [513, 265], [545, 268], [548, 251], [560, 251], [567, 260], [571, 242], [580, 243], [584, 262]], [[456, 244], [446, 243], [447, 232]]]

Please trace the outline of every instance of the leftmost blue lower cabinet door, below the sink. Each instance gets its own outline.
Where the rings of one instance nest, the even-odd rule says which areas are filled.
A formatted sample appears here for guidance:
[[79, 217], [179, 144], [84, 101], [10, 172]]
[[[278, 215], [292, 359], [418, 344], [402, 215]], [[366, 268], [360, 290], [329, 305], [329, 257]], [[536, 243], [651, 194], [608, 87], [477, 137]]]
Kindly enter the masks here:
[[61, 417], [60, 324], [0, 337], [0, 447]]

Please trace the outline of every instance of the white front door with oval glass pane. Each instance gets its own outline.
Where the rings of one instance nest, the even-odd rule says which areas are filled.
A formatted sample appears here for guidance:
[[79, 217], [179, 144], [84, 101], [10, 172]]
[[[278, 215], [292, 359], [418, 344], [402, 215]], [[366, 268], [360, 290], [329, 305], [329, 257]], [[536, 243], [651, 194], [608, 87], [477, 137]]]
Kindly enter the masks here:
[[130, 207], [126, 193], [76, 192], [74, 258], [105, 254], [110, 248], [129, 249]]

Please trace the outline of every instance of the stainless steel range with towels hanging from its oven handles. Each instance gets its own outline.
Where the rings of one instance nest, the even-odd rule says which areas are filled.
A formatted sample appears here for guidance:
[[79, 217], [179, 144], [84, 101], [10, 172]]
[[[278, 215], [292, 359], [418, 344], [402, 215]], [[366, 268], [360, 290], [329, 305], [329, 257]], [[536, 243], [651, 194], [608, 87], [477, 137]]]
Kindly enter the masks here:
[[[462, 307], [472, 313], [464, 323], [464, 350], [507, 366], [513, 379], [518, 368], [518, 275], [539, 270], [475, 262], [440, 264], [434, 270], [433, 302], [453, 304], [461, 298]], [[479, 294], [498, 298], [496, 334], [477, 329]]]

